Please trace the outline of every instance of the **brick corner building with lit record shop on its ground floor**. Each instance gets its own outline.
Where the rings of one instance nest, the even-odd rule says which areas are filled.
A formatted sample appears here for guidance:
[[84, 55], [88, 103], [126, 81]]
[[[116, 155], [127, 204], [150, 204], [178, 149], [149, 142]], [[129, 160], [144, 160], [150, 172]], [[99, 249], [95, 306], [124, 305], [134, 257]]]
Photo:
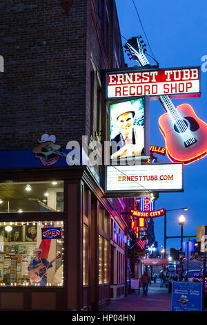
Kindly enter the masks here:
[[[99, 168], [69, 167], [66, 151], [34, 157], [32, 148], [43, 136], [53, 149], [107, 136], [101, 71], [125, 65], [115, 0], [3, 1], [0, 9], [0, 309], [99, 310], [126, 294], [121, 211], [131, 199], [105, 198]], [[21, 233], [15, 245], [8, 223]], [[61, 240], [44, 241], [42, 229], [59, 225]], [[28, 275], [36, 246], [48, 261], [61, 255], [41, 288]]]

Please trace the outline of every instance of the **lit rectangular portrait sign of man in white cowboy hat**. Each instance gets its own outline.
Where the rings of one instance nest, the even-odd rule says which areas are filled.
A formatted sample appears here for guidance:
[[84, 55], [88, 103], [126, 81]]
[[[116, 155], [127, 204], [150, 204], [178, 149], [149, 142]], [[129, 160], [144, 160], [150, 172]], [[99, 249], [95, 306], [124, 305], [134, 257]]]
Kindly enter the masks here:
[[144, 98], [110, 106], [111, 158], [141, 155], [144, 149]]

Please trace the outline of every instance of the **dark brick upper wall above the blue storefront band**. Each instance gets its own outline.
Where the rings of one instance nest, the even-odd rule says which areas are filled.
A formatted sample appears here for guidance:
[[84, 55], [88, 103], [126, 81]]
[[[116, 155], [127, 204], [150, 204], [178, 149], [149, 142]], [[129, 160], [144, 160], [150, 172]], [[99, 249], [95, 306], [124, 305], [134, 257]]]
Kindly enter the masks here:
[[61, 0], [7, 0], [0, 10], [0, 150], [32, 149], [43, 133], [63, 147], [90, 136], [91, 53], [106, 68], [91, 0], [74, 0], [68, 15]]

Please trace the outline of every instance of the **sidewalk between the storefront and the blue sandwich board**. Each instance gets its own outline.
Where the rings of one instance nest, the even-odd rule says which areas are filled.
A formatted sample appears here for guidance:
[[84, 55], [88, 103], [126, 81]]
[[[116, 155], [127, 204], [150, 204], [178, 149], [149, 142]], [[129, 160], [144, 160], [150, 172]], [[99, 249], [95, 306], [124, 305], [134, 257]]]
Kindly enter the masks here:
[[170, 311], [171, 293], [168, 288], [160, 288], [159, 282], [152, 283], [148, 287], [148, 295], [143, 295], [142, 288], [140, 293], [128, 294], [127, 297], [111, 300], [110, 305], [101, 311]]

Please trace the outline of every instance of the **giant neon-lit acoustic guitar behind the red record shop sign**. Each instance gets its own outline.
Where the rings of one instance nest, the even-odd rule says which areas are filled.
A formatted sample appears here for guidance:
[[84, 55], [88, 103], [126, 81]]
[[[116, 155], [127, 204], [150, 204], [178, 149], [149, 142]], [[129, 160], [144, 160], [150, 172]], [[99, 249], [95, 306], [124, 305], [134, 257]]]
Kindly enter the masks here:
[[[146, 44], [141, 37], [132, 37], [124, 48], [130, 59], [140, 66], [150, 66], [144, 55]], [[188, 165], [207, 155], [207, 124], [200, 120], [189, 104], [174, 106], [168, 95], [160, 95], [159, 100], [166, 113], [159, 118], [159, 129], [166, 142], [166, 153], [170, 160]]]

